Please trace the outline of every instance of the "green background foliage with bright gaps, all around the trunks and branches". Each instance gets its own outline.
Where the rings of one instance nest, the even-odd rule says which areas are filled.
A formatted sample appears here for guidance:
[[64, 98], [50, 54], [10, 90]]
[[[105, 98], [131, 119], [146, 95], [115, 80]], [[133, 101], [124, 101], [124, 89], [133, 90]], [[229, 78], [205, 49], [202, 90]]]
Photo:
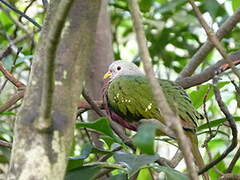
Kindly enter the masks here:
[[[41, 2], [34, 1], [9, 1], [11, 5], [34, 19], [39, 24], [43, 24], [45, 9]], [[206, 41], [206, 35], [202, 31], [197, 18], [187, 0], [140, 0], [140, 8], [144, 17], [145, 33], [148, 40], [148, 47], [154, 64], [154, 70], [157, 75], [164, 79], [174, 80], [177, 74], [186, 66], [191, 57]], [[214, 30], [220, 27], [223, 22], [233, 14], [240, 6], [239, 0], [211, 0], [197, 1], [204, 18], [212, 25]], [[7, 9], [0, 4], [0, 50], [6, 49], [10, 44], [11, 53], [1, 59], [1, 63], [20, 81], [27, 84], [29, 72], [33, 59], [34, 50], [39, 38], [38, 28], [18, 14]], [[229, 8], [229, 7], [232, 7]], [[136, 41], [133, 38], [133, 24], [129, 13], [127, 1], [110, 0], [109, 12], [111, 14], [111, 27], [113, 36], [113, 50], [115, 59], [128, 59], [135, 62], [141, 67], [140, 58], [137, 54]], [[16, 25], [13, 21], [17, 20], [21, 26]], [[224, 37], [222, 44], [227, 52], [235, 52], [240, 48], [240, 28], [239, 25]], [[34, 34], [34, 35], [31, 35]], [[22, 48], [20, 53], [18, 49]], [[0, 53], [1, 54], [1, 53]], [[220, 59], [218, 53], [213, 50], [205, 59], [204, 63], [198, 67], [196, 72], [201, 72], [209, 65], [214, 64]], [[227, 104], [231, 114], [239, 128], [240, 112], [239, 102], [235, 98], [235, 89], [231, 84], [227, 72], [222, 76], [222, 81], [217, 84], [221, 89], [224, 102]], [[232, 77], [234, 79], [234, 76]], [[235, 79], [234, 79], [235, 80]], [[206, 97], [206, 112], [210, 123], [206, 120], [199, 121], [197, 132], [199, 135], [200, 145], [209, 135], [209, 127], [217, 135], [209, 142], [209, 151], [213, 159], [218, 157], [230, 143], [230, 130], [224, 125], [226, 118], [220, 113], [217, 103], [214, 99], [211, 82], [193, 87], [187, 92], [193, 101], [193, 104], [199, 111], [203, 112], [204, 97]], [[210, 90], [209, 90], [210, 88]], [[17, 90], [12, 84], [0, 73], [0, 105], [3, 105]], [[0, 114], [0, 140], [12, 142], [13, 124], [17, 117], [21, 101], [13, 107]], [[129, 177], [136, 177], [138, 180], [153, 179], [153, 173], [162, 172], [166, 179], [186, 179], [183, 171], [184, 167], [176, 169], [160, 166], [154, 163], [158, 158], [158, 147], [174, 151], [171, 144], [166, 138], [160, 141], [154, 140], [155, 127], [152, 125], [143, 125], [139, 131], [134, 134], [127, 131], [131, 136], [135, 147], [133, 149], [124, 144], [123, 140], [116, 135], [111, 129], [107, 118], [97, 119], [95, 122], [87, 122], [88, 119], [83, 115], [85, 122], [79, 119], [74, 129], [74, 143], [72, 151], [69, 154], [69, 161], [66, 172], [66, 180], [72, 179], [94, 179], [102, 175], [103, 170], [109, 170], [109, 180], [124, 180]], [[86, 130], [87, 128], [87, 130]], [[102, 148], [96, 148], [92, 139], [88, 136], [89, 129], [100, 133], [99, 139], [103, 142]], [[164, 141], [164, 142], [162, 142]], [[169, 148], [170, 147], [170, 148]], [[164, 153], [166, 158], [171, 159], [169, 153]], [[161, 156], [162, 154], [159, 153]], [[172, 153], [170, 152], [172, 155]], [[231, 161], [234, 153], [231, 153], [224, 161], [221, 161], [216, 167], [224, 172]], [[205, 157], [205, 156], [204, 156]], [[10, 149], [0, 146], [0, 163], [8, 167], [10, 159]], [[206, 162], [208, 158], [205, 159]], [[240, 168], [238, 162], [233, 169], [237, 172]], [[2, 172], [6, 172], [1, 169]], [[214, 169], [210, 170], [212, 179], [219, 175]], [[1, 179], [1, 177], [0, 177]]]

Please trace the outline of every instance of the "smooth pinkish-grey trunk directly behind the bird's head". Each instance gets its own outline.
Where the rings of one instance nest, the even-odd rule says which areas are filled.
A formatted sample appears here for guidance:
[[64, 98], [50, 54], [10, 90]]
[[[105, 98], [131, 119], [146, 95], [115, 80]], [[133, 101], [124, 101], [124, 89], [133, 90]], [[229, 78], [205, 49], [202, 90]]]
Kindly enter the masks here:
[[[98, 17], [97, 33], [95, 39], [95, 47], [89, 63], [87, 71], [86, 88], [89, 95], [94, 100], [102, 99], [103, 75], [108, 69], [108, 65], [113, 61], [113, 48], [111, 37], [111, 25], [109, 15], [107, 12], [107, 1], [102, 1], [101, 10]], [[94, 121], [99, 116], [90, 111], [88, 113], [88, 120]], [[98, 134], [92, 133], [93, 142], [97, 147], [101, 147], [101, 141], [98, 139]]]

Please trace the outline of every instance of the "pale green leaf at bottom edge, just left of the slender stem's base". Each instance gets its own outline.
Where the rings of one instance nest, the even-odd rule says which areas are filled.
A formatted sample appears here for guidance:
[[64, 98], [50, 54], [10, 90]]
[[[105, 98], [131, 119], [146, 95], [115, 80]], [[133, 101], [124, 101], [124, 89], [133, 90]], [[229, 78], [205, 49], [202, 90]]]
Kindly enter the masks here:
[[154, 168], [158, 172], [164, 172], [166, 175], [166, 180], [188, 180], [188, 177], [186, 175], [170, 167], [156, 165]]

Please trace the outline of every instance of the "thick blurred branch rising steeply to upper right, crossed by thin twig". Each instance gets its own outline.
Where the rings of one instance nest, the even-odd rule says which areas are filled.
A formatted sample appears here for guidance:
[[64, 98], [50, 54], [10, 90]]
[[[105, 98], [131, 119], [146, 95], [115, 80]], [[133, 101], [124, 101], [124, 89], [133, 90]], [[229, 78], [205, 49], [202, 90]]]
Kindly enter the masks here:
[[[233, 30], [236, 24], [240, 21], [240, 8], [229, 17], [218, 29], [216, 35], [219, 39], [222, 39], [225, 35]], [[182, 72], [179, 74], [177, 80], [190, 76], [193, 74], [195, 69], [201, 64], [204, 58], [208, 55], [208, 53], [213, 49], [214, 45], [211, 41], [207, 41], [204, 45], [194, 54], [190, 62], [185, 66]]]

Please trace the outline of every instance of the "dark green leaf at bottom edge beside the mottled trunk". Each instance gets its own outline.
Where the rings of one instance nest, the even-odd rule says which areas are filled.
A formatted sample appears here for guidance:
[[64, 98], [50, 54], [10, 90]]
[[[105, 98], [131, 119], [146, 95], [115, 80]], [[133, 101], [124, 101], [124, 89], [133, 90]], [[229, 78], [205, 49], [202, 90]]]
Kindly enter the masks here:
[[86, 166], [68, 171], [65, 176], [65, 180], [94, 180], [95, 176], [101, 170], [101, 166]]

